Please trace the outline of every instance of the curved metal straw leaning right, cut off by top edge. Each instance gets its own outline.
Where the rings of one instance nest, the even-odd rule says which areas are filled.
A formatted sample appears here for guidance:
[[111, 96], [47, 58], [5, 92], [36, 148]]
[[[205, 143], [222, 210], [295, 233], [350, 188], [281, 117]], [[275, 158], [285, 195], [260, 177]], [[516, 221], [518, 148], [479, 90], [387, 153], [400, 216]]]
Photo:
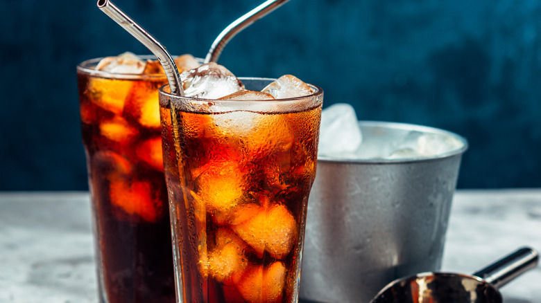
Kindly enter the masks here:
[[214, 39], [214, 42], [210, 47], [209, 53], [207, 53], [207, 57], [205, 57], [205, 63], [218, 61], [218, 57], [220, 57], [222, 50], [225, 47], [225, 44], [227, 44], [227, 42], [229, 42], [234, 37], [234, 35], [237, 35], [241, 30], [247, 28], [255, 21], [265, 17], [268, 13], [279, 8], [287, 1], [289, 0], [265, 1], [264, 3], [261, 3], [260, 6], [257, 6], [257, 8], [250, 10], [250, 12], [247, 12], [245, 15], [227, 26], [227, 28], [222, 30], [220, 35], [218, 35], [218, 37]]

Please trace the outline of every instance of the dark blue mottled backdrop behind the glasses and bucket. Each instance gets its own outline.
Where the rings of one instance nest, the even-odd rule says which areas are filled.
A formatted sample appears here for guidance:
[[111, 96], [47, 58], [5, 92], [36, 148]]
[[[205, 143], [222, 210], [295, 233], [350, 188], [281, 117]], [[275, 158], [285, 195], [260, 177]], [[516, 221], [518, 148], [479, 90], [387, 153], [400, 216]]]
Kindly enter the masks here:
[[[114, 3], [171, 53], [204, 57], [260, 2]], [[75, 66], [149, 52], [96, 0], [1, 6], [0, 190], [84, 190]], [[297, 75], [359, 119], [465, 136], [458, 187], [540, 187], [540, 35], [535, 0], [292, 0], [234, 37], [220, 62], [239, 76]]]

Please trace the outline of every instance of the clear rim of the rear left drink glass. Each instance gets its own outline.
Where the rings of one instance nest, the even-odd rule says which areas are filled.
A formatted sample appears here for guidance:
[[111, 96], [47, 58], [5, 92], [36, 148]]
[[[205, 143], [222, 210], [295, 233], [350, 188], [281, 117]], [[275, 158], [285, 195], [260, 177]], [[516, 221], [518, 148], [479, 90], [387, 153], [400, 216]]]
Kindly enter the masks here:
[[[118, 79], [118, 80], [147, 80], [147, 79], [167, 79], [165, 73], [111, 73], [109, 71], [96, 71], [94, 68], [89, 66], [96, 66], [101, 59], [106, 57], [115, 57], [115, 56], [105, 56], [105, 57], [96, 57], [92, 59], [87, 59], [83, 62], [77, 64], [77, 71], [80, 73], [85, 73], [87, 75], [92, 75], [95, 77], [103, 77], [108, 79]], [[137, 57], [146, 60], [153, 59], [157, 60], [154, 55], [137, 55]], [[176, 56], [173, 56], [176, 57]], [[196, 58], [198, 59], [198, 58]]]

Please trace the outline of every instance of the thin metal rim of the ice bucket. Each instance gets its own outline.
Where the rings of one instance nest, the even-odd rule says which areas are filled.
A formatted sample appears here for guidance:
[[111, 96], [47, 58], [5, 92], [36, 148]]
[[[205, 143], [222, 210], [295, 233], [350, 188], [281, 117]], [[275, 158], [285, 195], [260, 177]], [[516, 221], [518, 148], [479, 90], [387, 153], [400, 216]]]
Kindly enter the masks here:
[[457, 149], [452, 149], [449, 152], [437, 154], [434, 156], [416, 156], [409, 158], [397, 158], [397, 159], [384, 159], [384, 158], [368, 158], [368, 159], [355, 159], [347, 157], [333, 157], [333, 156], [318, 156], [318, 162], [321, 163], [350, 163], [350, 164], [399, 164], [399, 163], [412, 163], [412, 162], [425, 162], [432, 160], [440, 160], [444, 158], [451, 158], [463, 154], [467, 148], [468, 143], [466, 138], [455, 134], [452, 131], [446, 131], [444, 129], [438, 129], [436, 127], [427, 127], [424, 125], [415, 125], [411, 123], [402, 122], [386, 122], [386, 121], [372, 121], [372, 120], [360, 120], [359, 125], [363, 126], [376, 126], [386, 127], [392, 129], [404, 129], [407, 131], [422, 131], [424, 133], [442, 134], [445, 136], [451, 136], [462, 143], [462, 146]]

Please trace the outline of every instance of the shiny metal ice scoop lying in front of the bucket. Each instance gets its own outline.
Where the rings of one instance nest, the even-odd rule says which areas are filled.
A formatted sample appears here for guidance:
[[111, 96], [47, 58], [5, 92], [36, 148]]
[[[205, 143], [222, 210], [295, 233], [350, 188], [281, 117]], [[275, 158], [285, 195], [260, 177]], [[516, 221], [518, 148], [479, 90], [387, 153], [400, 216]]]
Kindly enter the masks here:
[[397, 279], [370, 303], [501, 303], [498, 288], [534, 268], [538, 258], [532, 248], [520, 248], [473, 275], [420, 273]]

